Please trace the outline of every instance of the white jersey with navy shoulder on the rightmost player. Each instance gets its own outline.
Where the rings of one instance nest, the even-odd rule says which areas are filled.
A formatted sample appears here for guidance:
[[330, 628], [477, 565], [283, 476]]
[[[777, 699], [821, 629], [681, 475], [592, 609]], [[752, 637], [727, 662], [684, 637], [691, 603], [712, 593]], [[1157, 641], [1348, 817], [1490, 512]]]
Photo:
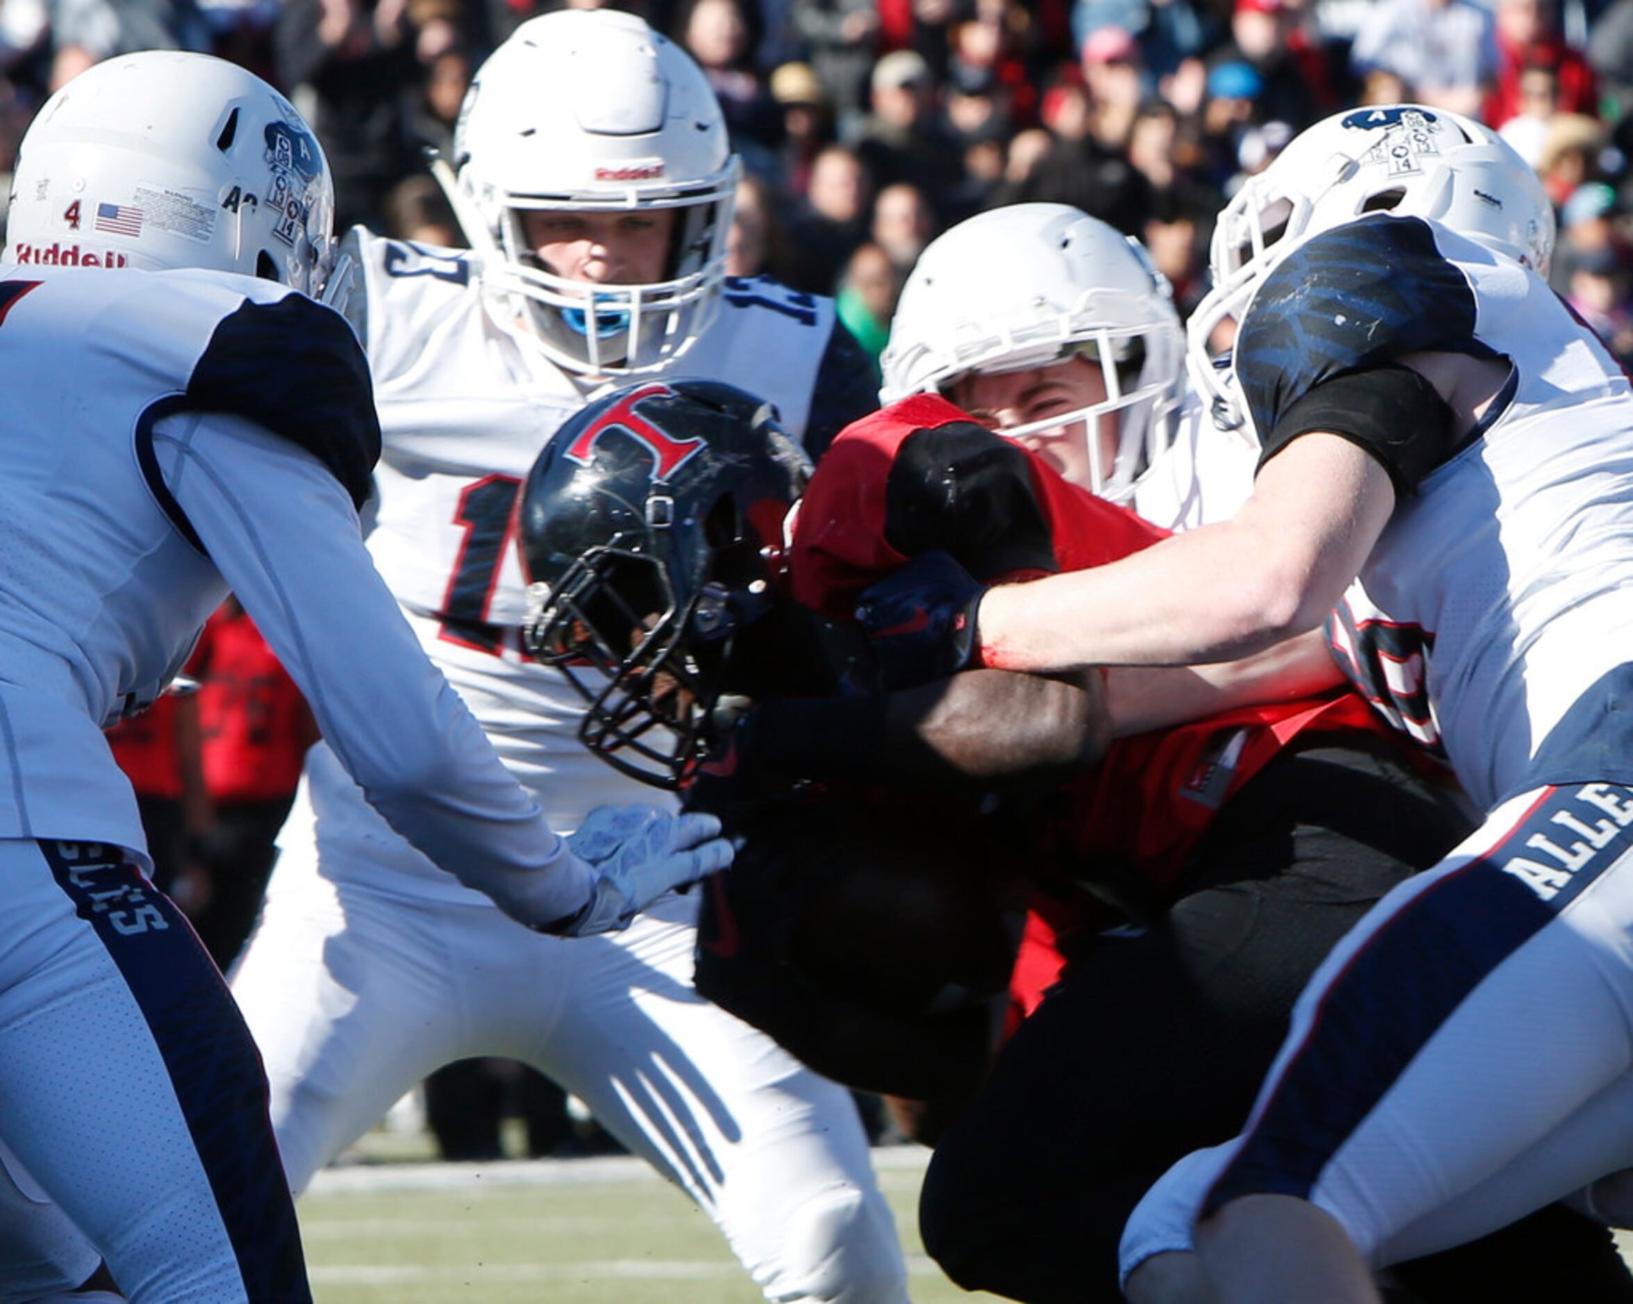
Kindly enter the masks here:
[[[1357, 687], [1483, 806], [1522, 783], [1628, 782], [1633, 757], [1561, 765], [1561, 738], [1550, 772], [1528, 774], [1573, 703], [1633, 661], [1633, 390], [1592, 331], [1517, 263], [1417, 219], [1367, 219], [1290, 255], [1238, 344], [1257, 429], [1357, 366], [1447, 348], [1512, 364], [1481, 426], [1401, 495], [1328, 633]], [[1615, 772], [1573, 772], [1584, 764]]]

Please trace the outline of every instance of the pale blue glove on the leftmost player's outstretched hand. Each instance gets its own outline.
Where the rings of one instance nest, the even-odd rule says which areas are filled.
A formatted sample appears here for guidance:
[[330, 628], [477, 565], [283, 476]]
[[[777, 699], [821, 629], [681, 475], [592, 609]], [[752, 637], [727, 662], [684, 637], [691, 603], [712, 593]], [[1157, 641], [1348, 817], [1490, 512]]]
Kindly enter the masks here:
[[665, 814], [655, 806], [596, 806], [567, 845], [596, 872], [588, 904], [544, 932], [563, 937], [627, 929], [666, 891], [732, 863], [732, 844], [712, 814]]

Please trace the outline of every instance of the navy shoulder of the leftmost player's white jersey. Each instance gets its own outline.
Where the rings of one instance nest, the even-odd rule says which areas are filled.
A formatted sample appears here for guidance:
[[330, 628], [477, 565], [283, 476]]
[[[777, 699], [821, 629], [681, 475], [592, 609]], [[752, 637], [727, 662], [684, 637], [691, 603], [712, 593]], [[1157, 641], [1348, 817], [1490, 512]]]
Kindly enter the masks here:
[[369, 495], [380, 457], [369, 364], [346, 320], [304, 294], [224, 317], [188, 377], [185, 406], [255, 421], [317, 457], [356, 506]]

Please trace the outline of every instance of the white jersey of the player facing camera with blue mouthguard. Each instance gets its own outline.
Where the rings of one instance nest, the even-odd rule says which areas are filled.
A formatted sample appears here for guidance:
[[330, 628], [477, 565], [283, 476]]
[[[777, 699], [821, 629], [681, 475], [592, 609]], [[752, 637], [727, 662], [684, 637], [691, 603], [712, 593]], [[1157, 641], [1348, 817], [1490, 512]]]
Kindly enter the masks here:
[[[513, 506], [563, 421], [621, 382], [581, 387], [550, 362], [505, 302], [483, 291], [465, 251], [348, 235], [359, 335], [374, 372], [384, 450], [366, 509], [369, 550], [420, 641], [488, 731], [500, 757], [572, 831], [601, 803], [673, 801], [621, 775], [576, 736], [583, 700], [554, 669], [523, 658], [526, 583]], [[771, 281], [728, 281], [709, 331], [671, 377], [725, 380], [771, 400], [807, 431], [834, 333], [833, 304]], [[661, 379], [661, 377], [655, 377]], [[861, 377], [870, 392], [870, 377]], [[828, 431], [831, 434], [833, 431]], [[382, 831], [331, 757], [307, 765], [323, 872], [439, 896], [462, 889]], [[420, 889], [410, 886], [410, 891]]]

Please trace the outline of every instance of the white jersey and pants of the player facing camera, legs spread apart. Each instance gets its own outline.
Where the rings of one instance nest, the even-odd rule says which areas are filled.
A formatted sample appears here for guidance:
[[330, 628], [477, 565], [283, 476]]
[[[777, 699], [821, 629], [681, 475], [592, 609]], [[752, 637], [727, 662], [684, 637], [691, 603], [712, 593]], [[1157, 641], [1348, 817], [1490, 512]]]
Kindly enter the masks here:
[[[555, 827], [652, 801], [576, 741], [568, 682], [518, 654], [514, 490], [596, 395], [505, 320], [467, 255], [351, 238], [385, 431], [369, 534], [382, 574]], [[799, 432], [831, 335], [828, 300], [728, 281], [676, 374], [763, 393]], [[234, 994], [296, 1190], [433, 1069], [508, 1056], [697, 1200], [769, 1299], [905, 1297], [849, 1093], [692, 992], [696, 896], [611, 937], [529, 934], [392, 836], [322, 746], [279, 844]]]

